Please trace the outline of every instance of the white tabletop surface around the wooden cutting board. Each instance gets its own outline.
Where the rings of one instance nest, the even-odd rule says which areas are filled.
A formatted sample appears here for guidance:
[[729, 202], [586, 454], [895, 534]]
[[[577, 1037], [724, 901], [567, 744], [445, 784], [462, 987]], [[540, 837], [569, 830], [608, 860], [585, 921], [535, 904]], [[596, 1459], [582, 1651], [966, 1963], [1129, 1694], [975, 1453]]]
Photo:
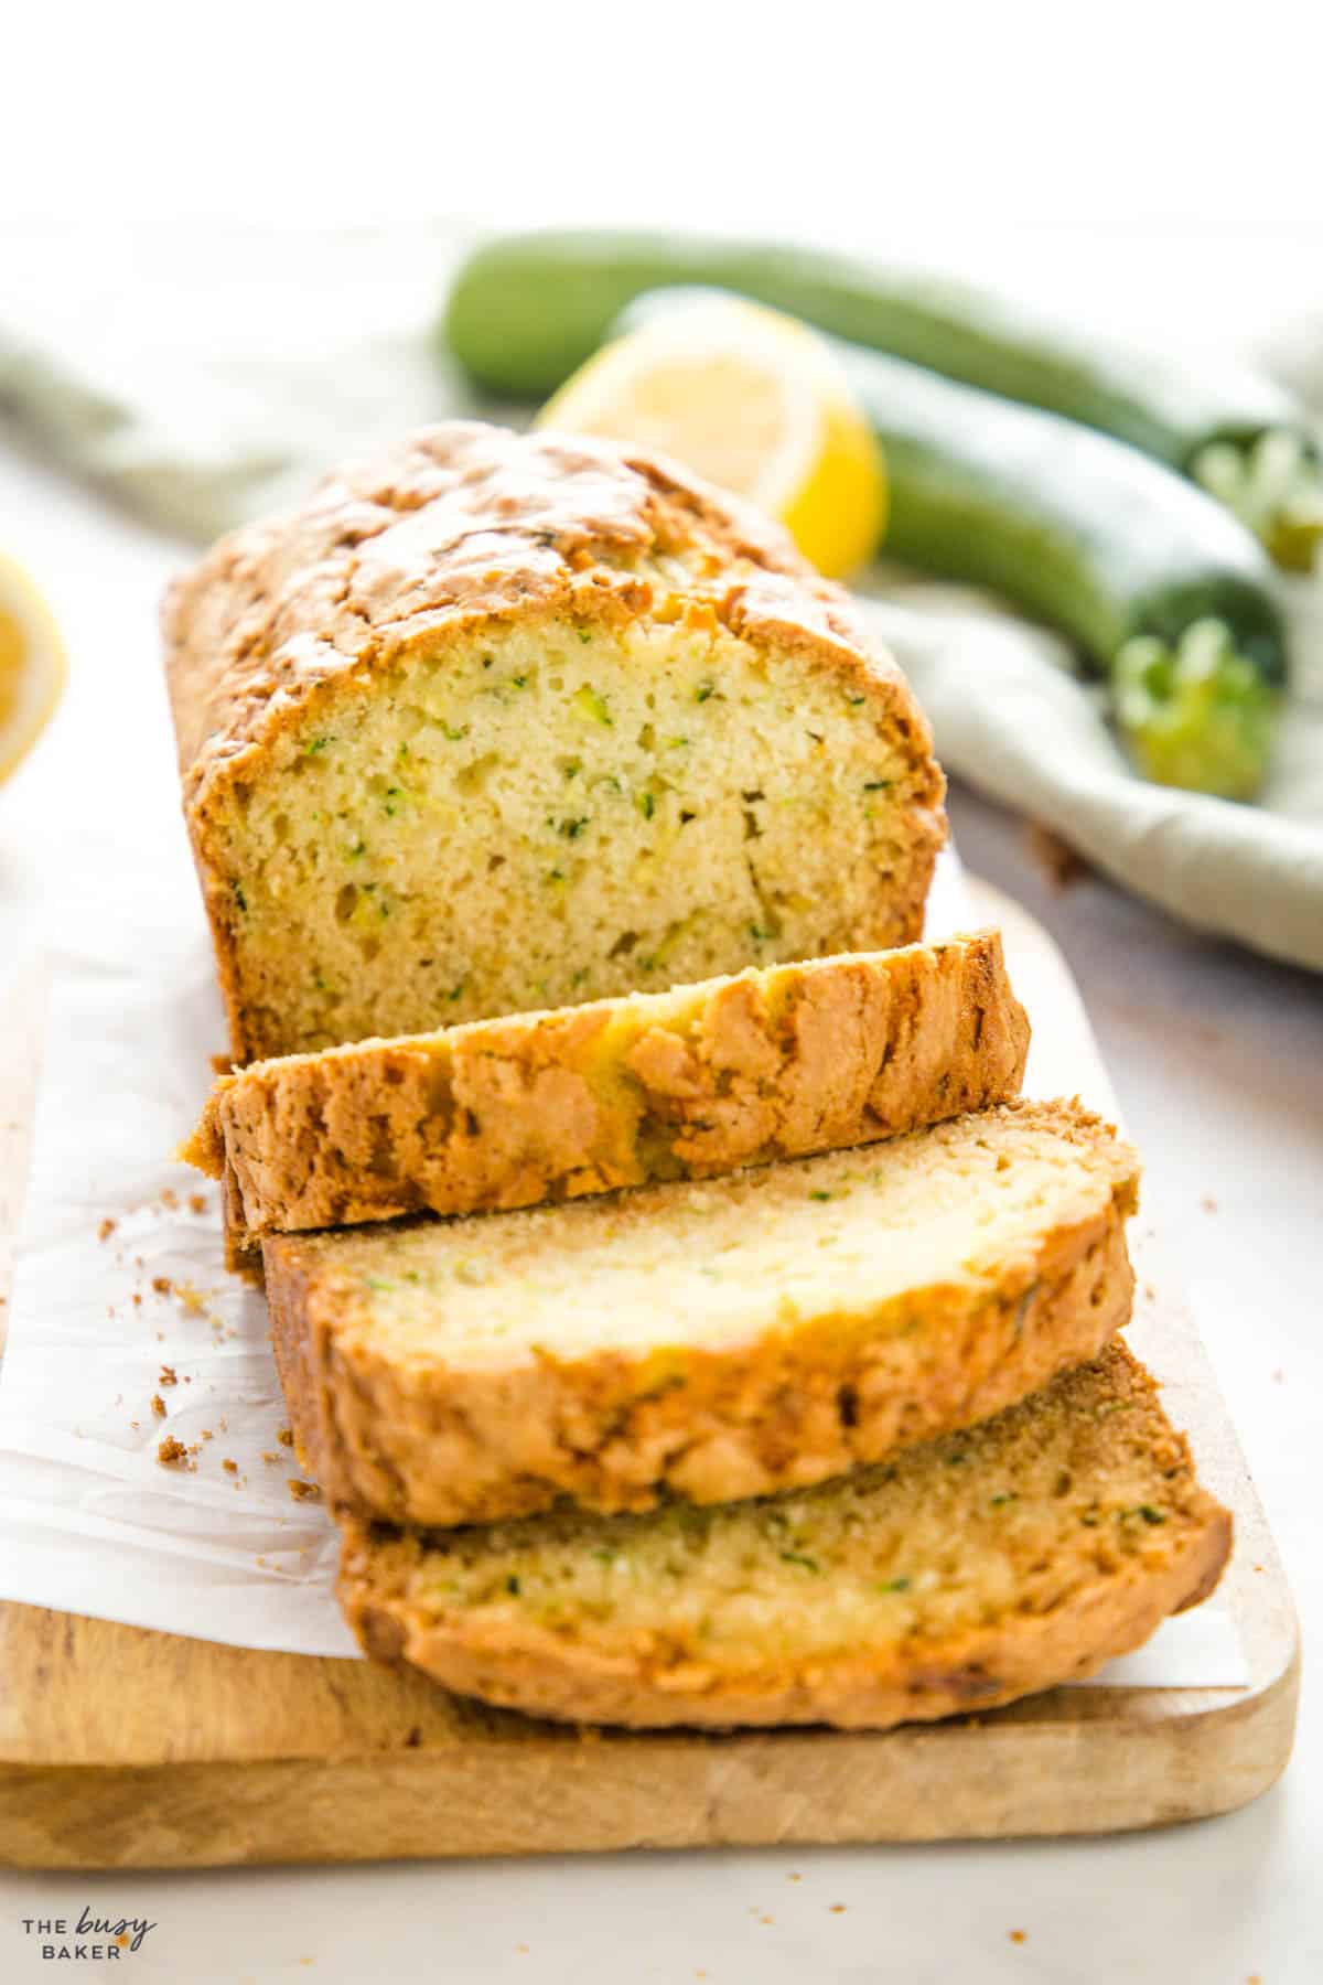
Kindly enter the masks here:
[[[167, 776], [155, 603], [177, 554], [0, 451], [0, 536], [71, 651], [58, 728], [0, 792], [0, 985], [42, 921], [131, 917], [161, 861], [143, 794]], [[1313, 1461], [1323, 1397], [1323, 985], [1184, 933], [1113, 889], [1053, 895], [1018, 822], [956, 794], [970, 867], [1073, 963], [1129, 1127], [1295, 1584], [1323, 1638]], [[111, 856], [107, 861], [105, 856]], [[565, 1862], [0, 1876], [0, 1975], [52, 1975], [22, 1918], [149, 1916], [131, 1959], [171, 1981], [1323, 1977], [1323, 1719], [1246, 1812], [1061, 1844], [617, 1856]], [[1010, 1939], [1023, 1929], [1025, 1939]], [[95, 1965], [83, 1971], [101, 1969]]]

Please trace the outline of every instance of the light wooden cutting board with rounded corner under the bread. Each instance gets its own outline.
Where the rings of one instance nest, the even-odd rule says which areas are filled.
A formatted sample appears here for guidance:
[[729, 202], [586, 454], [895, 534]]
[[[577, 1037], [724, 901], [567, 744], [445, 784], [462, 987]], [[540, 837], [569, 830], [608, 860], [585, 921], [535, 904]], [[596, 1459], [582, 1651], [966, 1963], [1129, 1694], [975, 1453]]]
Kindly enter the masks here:
[[[978, 917], [1006, 931], [1033, 1020], [1027, 1090], [1111, 1110], [1063, 959], [1010, 899], [970, 891]], [[0, 1016], [0, 1294], [42, 1010], [32, 977]], [[0, 1606], [0, 1860], [177, 1868], [1089, 1834], [1246, 1804], [1291, 1749], [1295, 1616], [1208, 1360], [1143, 1217], [1137, 1227], [1133, 1342], [1236, 1513], [1222, 1594], [1250, 1687], [1053, 1689], [885, 1735], [595, 1733], [488, 1711], [367, 1661]]]

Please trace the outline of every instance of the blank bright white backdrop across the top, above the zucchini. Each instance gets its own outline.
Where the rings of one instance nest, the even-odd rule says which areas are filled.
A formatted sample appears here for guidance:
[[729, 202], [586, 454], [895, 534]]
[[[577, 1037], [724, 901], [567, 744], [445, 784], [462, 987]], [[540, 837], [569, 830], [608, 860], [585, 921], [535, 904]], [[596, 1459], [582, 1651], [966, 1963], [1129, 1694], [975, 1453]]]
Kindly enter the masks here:
[[783, 230], [1319, 220], [1307, 0], [8, 10], [6, 204]]

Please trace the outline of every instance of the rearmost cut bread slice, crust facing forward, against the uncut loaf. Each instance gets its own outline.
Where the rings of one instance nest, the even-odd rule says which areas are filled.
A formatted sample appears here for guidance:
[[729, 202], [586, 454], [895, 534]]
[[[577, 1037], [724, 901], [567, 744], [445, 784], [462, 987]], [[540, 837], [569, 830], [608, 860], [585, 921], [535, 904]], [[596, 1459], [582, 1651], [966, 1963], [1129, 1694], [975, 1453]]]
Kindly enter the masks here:
[[236, 1239], [528, 1207], [982, 1110], [1027, 1042], [982, 931], [258, 1062], [180, 1155], [226, 1179]]

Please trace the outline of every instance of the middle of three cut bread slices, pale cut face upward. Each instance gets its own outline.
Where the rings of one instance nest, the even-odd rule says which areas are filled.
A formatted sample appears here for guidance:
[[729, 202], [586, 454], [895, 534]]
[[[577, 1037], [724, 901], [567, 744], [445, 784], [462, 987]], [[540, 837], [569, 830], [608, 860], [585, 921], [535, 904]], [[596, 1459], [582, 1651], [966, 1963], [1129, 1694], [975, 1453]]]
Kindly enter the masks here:
[[1071, 1104], [530, 1213], [262, 1243], [331, 1503], [472, 1522], [821, 1481], [1129, 1320], [1137, 1157]]

